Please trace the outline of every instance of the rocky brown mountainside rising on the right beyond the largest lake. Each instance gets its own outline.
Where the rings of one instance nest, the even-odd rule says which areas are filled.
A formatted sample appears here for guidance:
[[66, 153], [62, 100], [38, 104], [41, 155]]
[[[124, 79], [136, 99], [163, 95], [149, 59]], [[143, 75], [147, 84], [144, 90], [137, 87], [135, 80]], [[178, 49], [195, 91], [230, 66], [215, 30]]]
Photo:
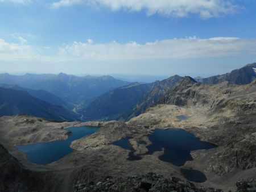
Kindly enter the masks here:
[[[229, 82], [205, 85], [185, 77], [159, 100], [162, 105], [131, 119], [129, 124], [185, 128], [218, 145], [212, 155], [207, 154], [209, 160], [200, 162], [206, 162], [205, 171], [225, 175], [237, 169], [255, 169], [255, 99], [256, 80], [243, 86]], [[190, 118], [179, 122], [176, 115]], [[204, 156], [200, 152], [194, 155]]]

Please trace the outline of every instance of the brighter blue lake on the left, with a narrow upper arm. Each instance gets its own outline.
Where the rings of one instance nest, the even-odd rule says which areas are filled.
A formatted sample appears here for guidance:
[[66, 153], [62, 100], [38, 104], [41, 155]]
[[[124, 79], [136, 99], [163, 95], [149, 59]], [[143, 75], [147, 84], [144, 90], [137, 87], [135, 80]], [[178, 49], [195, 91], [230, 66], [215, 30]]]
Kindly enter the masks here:
[[98, 127], [69, 127], [66, 130], [72, 132], [67, 140], [17, 145], [16, 148], [26, 153], [30, 162], [35, 164], [49, 164], [71, 153], [73, 151], [70, 147], [72, 141], [93, 134], [98, 130]]

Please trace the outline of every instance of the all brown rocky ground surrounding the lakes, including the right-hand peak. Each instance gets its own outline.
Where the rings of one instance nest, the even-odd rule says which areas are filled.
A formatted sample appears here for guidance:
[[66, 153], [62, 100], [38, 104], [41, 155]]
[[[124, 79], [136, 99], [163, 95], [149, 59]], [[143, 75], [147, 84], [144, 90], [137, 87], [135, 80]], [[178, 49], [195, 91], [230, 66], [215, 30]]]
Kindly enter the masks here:
[[[27, 170], [35, 182], [42, 185], [47, 182], [41, 191], [48, 186], [55, 191], [218, 191], [209, 187], [223, 191], [254, 191], [254, 180], [250, 178], [256, 178], [256, 80], [247, 85], [201, 84], [184, 77], [160, 95], [162, 97], [152, 107], [126, 123], [51, 122], [26, 115], [4, 116], [0, 118], [0, 143], [13, 157], [5, 149], [1, 150], [6, 158], [14, 159], [10, 162], [18, 167], [18, 178]], [[177, 116], [180, 115], [189, 118], [179, 120]], [[66, 127], [83, 125], [101, 128], [73, 141], [71, 147], [75, 150], [51, 164], [31, 164], [15, 148], [20, 144], [66, 139]], [[163, 149], [145, 155], [146, 146], [151, 144], [148, 135], [155, 128], [170, 127], [183, 128], [217, 147], [192, 151], [193, 160], [182, 167], [161, 161], [159, 156], [163, 155]], [[112, 144], [126, 137], [133, 151]], [[130, 155], [139, 158], [131, 161]], [[1, 165], [5, 164], [6, 161], [1, 161]], [[199, 170], [208, 180], [193, 185], [184, 181], [181, 168]], [[26, 181], [19, 180], [29, 186]], [[147, 189], [143, 186], [149, 184], [144, 180], [151, 180]], [[11, 190], [10, 185], [6, 187]], [[24, 189], [34, 190], [33, 186]]]

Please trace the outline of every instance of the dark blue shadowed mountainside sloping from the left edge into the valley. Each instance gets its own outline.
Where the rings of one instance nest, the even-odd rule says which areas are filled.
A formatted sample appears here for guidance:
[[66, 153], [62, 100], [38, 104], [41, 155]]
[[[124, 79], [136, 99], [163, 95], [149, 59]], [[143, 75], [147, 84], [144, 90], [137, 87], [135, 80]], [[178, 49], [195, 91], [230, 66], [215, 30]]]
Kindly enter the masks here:
[[75, 120], [66, 108], [32, 97], [27, 91], [0, 87], [0, 116], [27, 114], [54, 120]]

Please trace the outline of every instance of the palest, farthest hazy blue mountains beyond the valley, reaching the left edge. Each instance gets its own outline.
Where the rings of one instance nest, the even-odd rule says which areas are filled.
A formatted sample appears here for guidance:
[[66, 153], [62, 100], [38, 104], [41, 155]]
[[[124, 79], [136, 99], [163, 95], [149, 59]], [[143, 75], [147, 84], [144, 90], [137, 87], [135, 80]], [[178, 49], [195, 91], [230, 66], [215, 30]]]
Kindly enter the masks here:
[[66, 103], [88, 105], [98, 95], [130, 84], [130, 82], [117, 80], [111, 76], [77, 77], [64, 73], [14, 76], [4, 73], [0, 74], [0, 84], [16, 84], [27, 89], [44, 90], [56, 95]]

